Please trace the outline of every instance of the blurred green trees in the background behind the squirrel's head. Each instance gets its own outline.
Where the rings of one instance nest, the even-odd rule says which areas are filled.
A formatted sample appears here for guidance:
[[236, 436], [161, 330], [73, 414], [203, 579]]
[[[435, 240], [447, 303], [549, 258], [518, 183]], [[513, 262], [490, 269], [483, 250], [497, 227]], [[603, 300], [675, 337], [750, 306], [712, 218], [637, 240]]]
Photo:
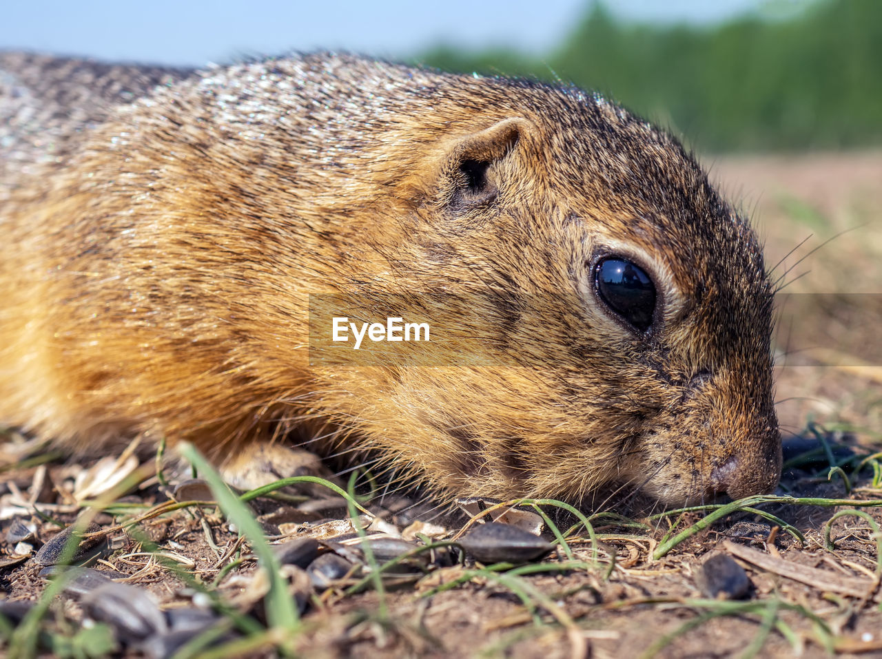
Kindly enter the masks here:
[[436, 48], [419, 61], [596, 89], [705, 151], [882, 144], [880, 0], [818, 0], [715, 26], [628, 23], [596, 2], [541, 60]]

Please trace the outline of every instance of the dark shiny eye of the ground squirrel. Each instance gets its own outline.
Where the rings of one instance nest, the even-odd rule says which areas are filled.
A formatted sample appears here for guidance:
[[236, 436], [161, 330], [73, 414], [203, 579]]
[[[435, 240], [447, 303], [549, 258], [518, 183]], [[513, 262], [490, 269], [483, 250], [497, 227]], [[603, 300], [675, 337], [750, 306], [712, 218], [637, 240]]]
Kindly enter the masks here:
[[641, 332], [653, 324], [655, 286], [638, 265], [610, 256], [594, 268], [594, 286], [607, 307]]

